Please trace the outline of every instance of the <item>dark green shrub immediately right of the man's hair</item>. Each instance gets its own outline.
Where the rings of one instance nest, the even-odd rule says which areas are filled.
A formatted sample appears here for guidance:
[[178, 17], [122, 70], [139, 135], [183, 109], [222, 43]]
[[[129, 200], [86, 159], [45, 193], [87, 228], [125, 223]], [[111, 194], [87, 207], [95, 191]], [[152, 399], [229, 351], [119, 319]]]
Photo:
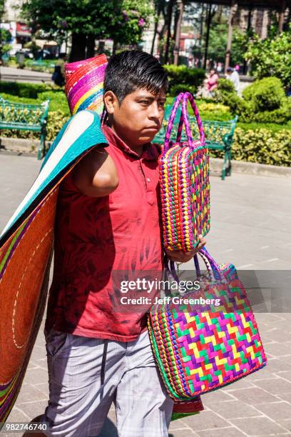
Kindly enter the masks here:
[[193, 91], [190, 92], [195, 94], [205, 79], [205, 71], [203, 69], [189, 69], [185, 65], [164, 65], [163, 67], [168, 74], [169, 92], [171, 95], [173, 95], [171, 89], [176, 85], [185, 85], [187, 89], [189, 86], [192, 86]]

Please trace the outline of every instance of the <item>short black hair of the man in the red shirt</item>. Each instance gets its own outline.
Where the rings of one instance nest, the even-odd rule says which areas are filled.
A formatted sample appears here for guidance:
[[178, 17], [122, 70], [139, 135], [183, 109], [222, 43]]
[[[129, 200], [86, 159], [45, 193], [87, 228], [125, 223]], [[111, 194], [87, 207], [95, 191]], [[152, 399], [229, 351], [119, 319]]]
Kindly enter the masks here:
[[139, 50], [126, 50], [111, 57], [106, 67], [104, 93], [113, 91], [119, 104], [138, 88], [153, 94], [167, 91], [168, 79], [154, 56]]

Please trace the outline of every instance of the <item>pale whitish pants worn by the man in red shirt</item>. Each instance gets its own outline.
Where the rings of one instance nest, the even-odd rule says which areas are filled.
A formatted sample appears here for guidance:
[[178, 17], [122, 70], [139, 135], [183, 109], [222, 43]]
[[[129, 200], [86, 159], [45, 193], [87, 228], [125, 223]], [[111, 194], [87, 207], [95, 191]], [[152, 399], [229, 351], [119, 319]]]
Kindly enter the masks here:
[[98, 436], [113, 401], [119, 437], [168, 437], [173, 401], [155, 366], [148, 331], [127, 343], [53, 330], [45, 335], [46, 435]]

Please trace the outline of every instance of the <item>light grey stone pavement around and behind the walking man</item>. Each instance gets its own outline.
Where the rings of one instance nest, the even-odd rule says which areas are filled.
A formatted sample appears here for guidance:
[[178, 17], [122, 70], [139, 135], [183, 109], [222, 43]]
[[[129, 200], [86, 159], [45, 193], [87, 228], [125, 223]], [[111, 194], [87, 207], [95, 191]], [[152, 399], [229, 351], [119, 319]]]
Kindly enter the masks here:
[[[39, 161], [0, 154], [0, 228], [36, 177]], [[218, 262], [240, 269], [290, 269], [291, 181], [233, 174], [211, 177], [208, 249]], [[203, 396], [205, 411], [170, 425], [170, 437], [291, 436], [291, 311], [257, 313], [267, 366]], [[43, 326], [9, 421], [30, 421], [48, 398]], [[102, 437], [117, 436], [114, 406]], [[21, 434], [0, 433], [18, 437]], [[83, 437], [83, 436], [80, 436]], [[139, 436], [136, 436], [139, 437]]]

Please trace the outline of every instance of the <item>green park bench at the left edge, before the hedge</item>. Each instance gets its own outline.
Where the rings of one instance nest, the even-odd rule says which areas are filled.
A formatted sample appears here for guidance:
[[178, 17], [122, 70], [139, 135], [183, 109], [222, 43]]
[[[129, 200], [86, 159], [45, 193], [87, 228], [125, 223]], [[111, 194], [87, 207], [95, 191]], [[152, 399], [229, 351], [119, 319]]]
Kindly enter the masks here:
[[0, 96], [0, 129], [40, 132], [38, 159], [45, 154], [48, 105], [49, 100], [39, 105], [21, 104], [4, 100]]

